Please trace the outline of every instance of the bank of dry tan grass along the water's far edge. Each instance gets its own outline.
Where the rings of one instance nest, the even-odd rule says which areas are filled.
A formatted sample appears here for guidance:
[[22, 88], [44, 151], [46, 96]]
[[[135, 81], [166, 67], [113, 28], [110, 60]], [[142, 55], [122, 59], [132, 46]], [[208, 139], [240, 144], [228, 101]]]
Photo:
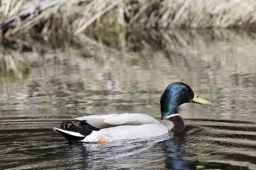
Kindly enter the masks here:
[[254, 0], [2, 0], [5, 37], [48, 39], [124, 28], [256, 28]]

